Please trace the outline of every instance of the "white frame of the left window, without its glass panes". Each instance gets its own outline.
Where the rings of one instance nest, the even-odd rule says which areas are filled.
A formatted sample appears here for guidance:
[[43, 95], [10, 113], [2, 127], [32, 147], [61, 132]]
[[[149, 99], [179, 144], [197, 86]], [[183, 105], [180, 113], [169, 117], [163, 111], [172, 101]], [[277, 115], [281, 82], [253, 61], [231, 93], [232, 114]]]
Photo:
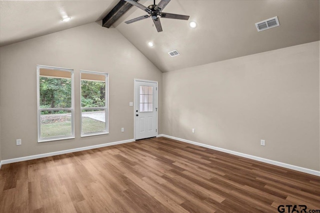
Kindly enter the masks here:
[[[40, 69], [49, 69], [49, 70], [58, 70], [66, 71], [71, 73], [71, 108], [40, 108]], [[66, 139], [74, 139], [74, 71], [73, 69], [54, 67], [54, 66], [45, 66], [45, 65], [36, 65], [36, 89], [37, 89], [37, 133], [38, 133], [38, 143], [49, 142], [49, 141], [58, 141]], [[70, 111], [71, 112], [71, 135], [66, 136], [57, 136], [50, 138], [41, 138], [41, 111]]]

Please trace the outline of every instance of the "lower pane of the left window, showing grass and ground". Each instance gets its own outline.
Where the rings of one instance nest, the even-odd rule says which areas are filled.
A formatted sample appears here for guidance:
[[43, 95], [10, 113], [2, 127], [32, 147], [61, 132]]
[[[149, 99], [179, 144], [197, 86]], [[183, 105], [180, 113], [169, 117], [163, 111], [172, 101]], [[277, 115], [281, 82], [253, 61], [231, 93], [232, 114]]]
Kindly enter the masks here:
[[71, 129], [71, 111], [40, 112], [41, 139], [70, 136]]

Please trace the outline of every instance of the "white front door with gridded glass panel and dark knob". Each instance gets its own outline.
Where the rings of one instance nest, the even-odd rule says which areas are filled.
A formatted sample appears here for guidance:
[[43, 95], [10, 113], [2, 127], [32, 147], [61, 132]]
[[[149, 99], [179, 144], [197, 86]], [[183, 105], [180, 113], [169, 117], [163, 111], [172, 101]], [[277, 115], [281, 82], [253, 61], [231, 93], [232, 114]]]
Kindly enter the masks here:
[[157, 82], [134, 80], [135, 140], [156, 136]]

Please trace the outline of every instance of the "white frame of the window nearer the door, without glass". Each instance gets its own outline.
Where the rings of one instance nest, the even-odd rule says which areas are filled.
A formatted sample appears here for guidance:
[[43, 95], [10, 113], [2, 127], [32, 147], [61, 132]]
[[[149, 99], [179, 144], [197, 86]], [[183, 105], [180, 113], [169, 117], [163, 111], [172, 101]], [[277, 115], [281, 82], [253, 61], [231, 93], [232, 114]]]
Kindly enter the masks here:
[[[104, 107], [82, 107], [82, 87], [81, 87], [81, 74], [94, 74], [94, 75], [103, 75], [105, 79], [105, 93], [104, 93]], [[90, 132], [90, 133], [82, 133], [82, 110], [104, 110], [104, 121], [105, 121], [105, 129], [104, 131], [99, 132]], [[95, 71], [88, 71], [88, 70], [80, 70], [80, 137], [88, 137], [94, 135], [104, 135], [109, 134], [109, 75], [105, 72], [95, 72]]]

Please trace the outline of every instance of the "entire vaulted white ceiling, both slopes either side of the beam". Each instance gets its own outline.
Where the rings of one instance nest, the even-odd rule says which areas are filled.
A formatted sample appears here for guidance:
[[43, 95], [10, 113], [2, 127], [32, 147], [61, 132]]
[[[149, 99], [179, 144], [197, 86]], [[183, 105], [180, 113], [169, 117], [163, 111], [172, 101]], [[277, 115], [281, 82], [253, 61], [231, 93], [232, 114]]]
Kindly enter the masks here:
[[[101, 20], [117, 2], [1, 0], [0, 45]], [[138, 2], [148, 6], [153, 0]], [[319, 40], [319, 0], [171, 0], [163, 12], [190, 15], [197, 27], [165, 18], [160, 18], [162, 32], [150, 18], [125, 24], [146, 14], [136, 7], [113, 24], [162, 72]], [[63, 15], [72, 19], [61, 22]], [[280, 26], [257, 32], [255, 22], [274, 16]], [[174, 49], [180, 55], [170, 57], [167, 52]]]

